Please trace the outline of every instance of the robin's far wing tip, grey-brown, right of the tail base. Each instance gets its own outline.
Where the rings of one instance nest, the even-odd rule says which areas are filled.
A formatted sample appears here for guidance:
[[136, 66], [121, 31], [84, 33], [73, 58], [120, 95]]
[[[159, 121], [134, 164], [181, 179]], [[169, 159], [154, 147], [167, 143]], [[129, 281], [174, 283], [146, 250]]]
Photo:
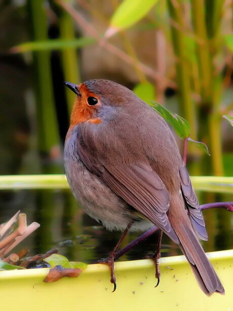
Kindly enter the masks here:
[[202, 211], [200, 209], [196, 193], [192, 188], [192, 184], [186, 167], [179, 167], [179, 173], [181, 189], [193, 229], [201, 239], [208, 240], [208, 234], [206, 232], [205, 221], [203, 219]]

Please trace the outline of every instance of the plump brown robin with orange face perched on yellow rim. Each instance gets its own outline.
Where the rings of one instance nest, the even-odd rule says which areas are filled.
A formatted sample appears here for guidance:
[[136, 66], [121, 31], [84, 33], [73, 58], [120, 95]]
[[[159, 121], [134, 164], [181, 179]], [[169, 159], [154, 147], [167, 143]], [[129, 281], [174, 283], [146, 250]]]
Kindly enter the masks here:
[[[181, 249], [202, 291], [224, 288], [199, 238], [202, 211], [165, 120], [127, 87], [93, 79], [64, 82], [76, 94], [64, 145], [64, 169], [84, 211], [109, 230], [158, 226]], [[114, 254], [106, 260], [116, 286]], [[113, 289], [113, 291], [114, 291]]]

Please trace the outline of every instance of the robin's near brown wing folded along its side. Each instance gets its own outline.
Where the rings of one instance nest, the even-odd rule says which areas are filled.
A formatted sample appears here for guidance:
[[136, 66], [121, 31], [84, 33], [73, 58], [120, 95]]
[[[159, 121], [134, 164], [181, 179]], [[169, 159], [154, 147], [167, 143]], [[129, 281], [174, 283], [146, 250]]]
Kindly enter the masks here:
[[[93, 144], [84, 142], [84, 137], [83, 135], [82, 140], [77, 144], [80, 158], [87, 168], [95, 172], [128, 204], [179, 243], [166, 214], [169, 209], [169, 193], [156, 172], [145, 163], [126, 164], [124, 158], [121, 164], [109, 162], [109, 157], [89, 148], [88, 146], [93, 147]], [[127, 158], [126, 154], [125, 156]], [[111, 153], [111, 158], [114, 159], [114, 153]]]

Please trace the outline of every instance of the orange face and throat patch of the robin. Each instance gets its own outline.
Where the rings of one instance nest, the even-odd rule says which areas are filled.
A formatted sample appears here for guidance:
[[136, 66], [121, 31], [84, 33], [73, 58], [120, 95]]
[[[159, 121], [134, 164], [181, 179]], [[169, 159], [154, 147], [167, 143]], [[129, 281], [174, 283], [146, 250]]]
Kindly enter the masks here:
[[[82, 122], [101, 123], [102, 121], [99, 118], [94, 117], [96, 109], [101, 105], [99, 96], [90, 92], [84, 83], [78, 85], [78, 89], [81, 96], [77, 95], [74, 102], [70, 118], [70, 128]], [[97, 99], [95, 105], [89, 105], [89, 102], [91, 102], [90, 97], [91, 99], [93, 97]]]

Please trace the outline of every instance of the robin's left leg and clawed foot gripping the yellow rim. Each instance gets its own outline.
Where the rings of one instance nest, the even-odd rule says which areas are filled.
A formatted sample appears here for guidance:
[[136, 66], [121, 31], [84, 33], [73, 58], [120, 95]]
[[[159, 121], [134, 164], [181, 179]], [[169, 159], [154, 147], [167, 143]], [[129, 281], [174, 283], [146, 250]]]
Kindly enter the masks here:
[[132, 221], [128, 224], [128, 226], [126, 227], [125, 231], [123, 232], [120, 240], [118, 241], [117, 245], [114, 247], [113, 251], [108, 256], [108, 258], [99, 260], [99, 263], [106, 263], [110, 268], [110, 275], [111, 275], [110, 282], [113, 284], [113, 291], [112, 292], [114, 292], [117, 289], [117, 283], [115, 280], [115, 273], [114, 273], [115, 254], [117, 254], [117, 251], [119, 250], [119, 248], [122, 244], [122, 241], [126, 237], [127, 233], [129, 232], [130, 228], [132, 227], [133, 223], [134, 223], [134, 221]]

